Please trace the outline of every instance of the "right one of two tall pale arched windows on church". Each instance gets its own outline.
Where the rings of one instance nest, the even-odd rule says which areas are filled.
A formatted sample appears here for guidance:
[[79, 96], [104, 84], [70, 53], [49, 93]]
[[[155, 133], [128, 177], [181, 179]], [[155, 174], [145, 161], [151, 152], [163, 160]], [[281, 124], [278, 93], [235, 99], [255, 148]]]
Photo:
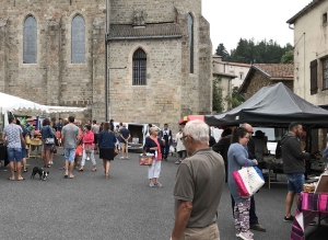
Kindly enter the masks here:
[[72, 64], [85, 64], [85, 23], [81, 15], [72, 21]]

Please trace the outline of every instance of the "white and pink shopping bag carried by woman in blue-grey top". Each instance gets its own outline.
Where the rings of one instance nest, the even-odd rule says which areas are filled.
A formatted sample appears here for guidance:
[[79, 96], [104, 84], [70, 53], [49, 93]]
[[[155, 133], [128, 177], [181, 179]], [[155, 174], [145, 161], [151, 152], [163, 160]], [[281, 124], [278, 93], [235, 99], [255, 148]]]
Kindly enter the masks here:
[[232, 174], [242, 198], [249, 198], [265, 184], [254, 167], [243, 167]]

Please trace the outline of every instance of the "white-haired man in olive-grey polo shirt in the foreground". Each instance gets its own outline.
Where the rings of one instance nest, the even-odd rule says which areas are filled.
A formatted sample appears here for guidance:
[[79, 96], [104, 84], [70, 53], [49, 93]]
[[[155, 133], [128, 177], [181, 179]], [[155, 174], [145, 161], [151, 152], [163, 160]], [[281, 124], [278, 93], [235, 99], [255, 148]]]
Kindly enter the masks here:
[[[171, 239], [219, 240], [218, 206], [225, 171], [222, 157], [209, 148], [209, 126], [202, 121], [186, 124], [181, 137], [187, 152], [174, 187], [175, 226]], [[197, 178], [196, 178], [197, 176]], [[203, 187], [208, 186], [208, 187]]]

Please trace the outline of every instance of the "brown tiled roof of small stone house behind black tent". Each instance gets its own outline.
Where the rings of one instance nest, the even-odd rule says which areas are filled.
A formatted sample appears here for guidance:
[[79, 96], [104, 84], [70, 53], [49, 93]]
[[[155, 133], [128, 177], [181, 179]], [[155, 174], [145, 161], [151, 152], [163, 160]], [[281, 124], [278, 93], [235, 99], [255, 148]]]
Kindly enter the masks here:
[[253, 67], [261, 71], [269, 78], [293, 78], [294, 77], [293, 64], [257, 64], [257, 65], [253, 65]]

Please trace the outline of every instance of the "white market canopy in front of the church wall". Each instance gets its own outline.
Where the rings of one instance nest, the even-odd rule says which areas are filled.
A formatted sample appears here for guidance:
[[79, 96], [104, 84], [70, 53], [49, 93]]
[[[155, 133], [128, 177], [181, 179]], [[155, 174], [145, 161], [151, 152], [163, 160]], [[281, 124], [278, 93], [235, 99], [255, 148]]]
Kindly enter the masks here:
[[13, 111], [37, 111], [39, 113], [82, 112], [86, 107], [49, 106], [0, 92], [0, 108], [2, 114]]

